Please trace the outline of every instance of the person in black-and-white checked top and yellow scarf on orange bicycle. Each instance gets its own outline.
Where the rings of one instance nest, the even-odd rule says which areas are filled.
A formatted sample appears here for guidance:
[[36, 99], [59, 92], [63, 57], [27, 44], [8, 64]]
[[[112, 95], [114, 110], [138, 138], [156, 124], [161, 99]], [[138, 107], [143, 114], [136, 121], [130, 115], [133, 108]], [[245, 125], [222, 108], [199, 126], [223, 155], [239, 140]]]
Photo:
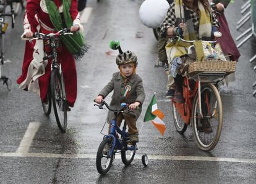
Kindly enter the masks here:
[[[218, 30], [218, 20], [216, 15], [211, 13], [208, 0], [175, 0], [161, 25], [162, 36], [167, 38], [181, 36], [186, 40], [210, 41], [213, 31], [216, 30]], [[189, 46], [181, 41], [173, 42], [171, 60], [186, 55]], [[183, 103], [181, 74], [174, 76], [174, 81], [176, 84], [174, 101]]]

